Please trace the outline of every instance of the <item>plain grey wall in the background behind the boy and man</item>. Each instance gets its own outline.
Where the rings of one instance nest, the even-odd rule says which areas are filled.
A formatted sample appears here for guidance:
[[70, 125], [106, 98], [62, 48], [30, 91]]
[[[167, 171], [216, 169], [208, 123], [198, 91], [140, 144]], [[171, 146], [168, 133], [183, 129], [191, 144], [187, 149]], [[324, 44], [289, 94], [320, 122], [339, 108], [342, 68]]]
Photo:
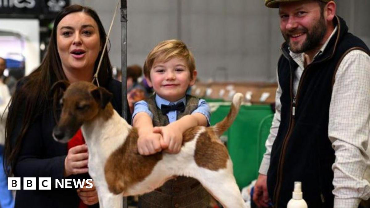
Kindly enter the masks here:
[[[108, 31], [116, 0], [72, 0], [95, 9]], [[162, 40], [183, 40], [195, 56], [198, 77], [217, 81], [275, 81], [283, 39], [277, 9], [263, 0], [128, 0], [128, 65], [144, 63]], [[369, 0], [337, 0], [350, 31], [370, 43]], [[110, 57], [121, 66], [120, 14]]]

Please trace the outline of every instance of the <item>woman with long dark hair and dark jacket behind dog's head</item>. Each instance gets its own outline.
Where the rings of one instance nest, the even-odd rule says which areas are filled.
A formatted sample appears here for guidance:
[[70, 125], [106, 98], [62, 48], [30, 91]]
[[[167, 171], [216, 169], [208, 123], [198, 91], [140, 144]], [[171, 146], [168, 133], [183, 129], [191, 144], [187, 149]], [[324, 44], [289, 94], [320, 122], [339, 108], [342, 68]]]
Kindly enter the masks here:
[[[17, 190], [15, 208], [81, 208], [86, 207], [84, 204], [98, 207], [94, 188], [77, 191], [54, 188], [55, 179], [90, 177], [87, 147], [81, 134], [73, 138], [75, 144], [61, 144], [52, 137], [61, 113], [61, 93], [51, 93], [50, 89], [59, 80], [91, 82], [105, 41], [104, 27], [94, 10], [68, 6], [55, 19], [41, 65], [19, 81], [7, 118], [5, 167], [10, 167], [8, 176], [36, 177], [36, 184], [38, 177], [51, 177], [52, 189], [23, 190], [22, 187]], [[98, 80], [114, 94], [111, 103], [121, 113], [121, 84], [112, 79], [107, 53], [103, 54]]]

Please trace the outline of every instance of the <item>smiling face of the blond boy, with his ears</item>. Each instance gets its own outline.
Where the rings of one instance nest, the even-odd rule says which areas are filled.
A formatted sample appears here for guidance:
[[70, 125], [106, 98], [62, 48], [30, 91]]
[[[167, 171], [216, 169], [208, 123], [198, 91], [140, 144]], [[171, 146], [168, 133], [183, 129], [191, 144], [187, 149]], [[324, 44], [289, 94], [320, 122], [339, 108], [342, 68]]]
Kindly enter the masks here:
[[155, 93], [160, 97], [174, 102], [185, 96], [189, 86], [195, 83], [196, 71], [193, 71], [193, 78], [188, 64], [183, 58], [171, 58], [167, 62], [154, 61], [150, 70], [148, 85], [153, 87]]

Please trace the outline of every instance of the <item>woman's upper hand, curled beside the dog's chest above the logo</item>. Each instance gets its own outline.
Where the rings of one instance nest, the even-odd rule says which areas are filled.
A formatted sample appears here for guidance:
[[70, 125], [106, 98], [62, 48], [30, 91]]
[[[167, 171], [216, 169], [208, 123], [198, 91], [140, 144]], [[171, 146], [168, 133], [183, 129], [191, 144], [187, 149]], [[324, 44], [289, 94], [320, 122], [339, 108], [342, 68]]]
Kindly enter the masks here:
[[87, 145], [77, 145], [68, 150], [64, 160], [64, 177], [88, 172]]

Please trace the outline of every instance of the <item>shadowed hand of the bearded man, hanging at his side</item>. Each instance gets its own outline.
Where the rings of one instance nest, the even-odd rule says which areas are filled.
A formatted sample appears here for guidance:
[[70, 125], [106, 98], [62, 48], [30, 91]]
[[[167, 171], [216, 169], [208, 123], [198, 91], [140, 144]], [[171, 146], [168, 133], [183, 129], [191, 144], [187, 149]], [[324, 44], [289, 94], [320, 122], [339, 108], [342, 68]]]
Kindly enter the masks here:
[[259, 174], [257, 182], [254, 187], [253, 201], [257, 207], [267, 208], [269, 207], [269, 194], [267, 192], [267, 176]]

